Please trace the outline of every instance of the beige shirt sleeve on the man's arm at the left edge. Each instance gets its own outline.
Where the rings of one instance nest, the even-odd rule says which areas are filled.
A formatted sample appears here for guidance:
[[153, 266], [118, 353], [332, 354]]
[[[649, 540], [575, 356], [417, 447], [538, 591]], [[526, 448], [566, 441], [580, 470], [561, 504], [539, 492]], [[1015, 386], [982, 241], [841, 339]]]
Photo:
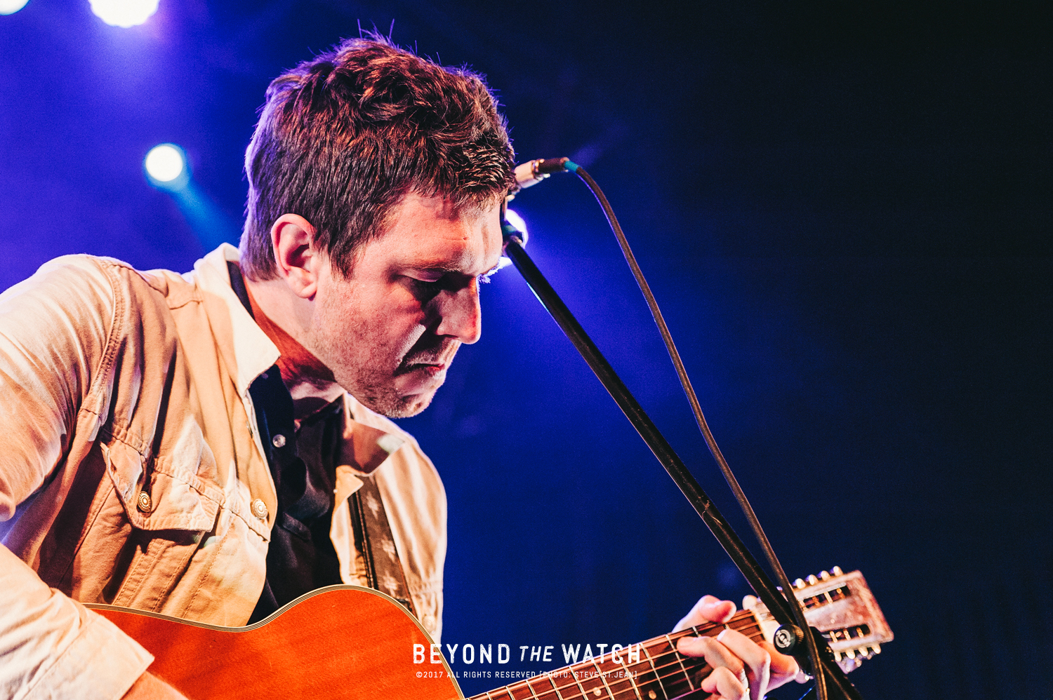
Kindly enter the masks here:
[[[86, 257], [52, 261], [0, 295], [0, 543], [69, 448], [117, 306], [105, 271]], [[0, 697], [117, 700], [153, 660], [2, 544], [0, 592]]]

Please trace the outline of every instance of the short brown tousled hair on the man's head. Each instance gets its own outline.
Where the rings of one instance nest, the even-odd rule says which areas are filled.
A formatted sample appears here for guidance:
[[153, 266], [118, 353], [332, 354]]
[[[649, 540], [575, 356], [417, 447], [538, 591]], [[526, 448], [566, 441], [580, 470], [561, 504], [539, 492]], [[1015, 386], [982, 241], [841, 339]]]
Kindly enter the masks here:
[[241, 266], [277, 277], [271, 226], [298, 214], [345, 277], [402, 198], [483, 204], [515, 182], [513, 151], [483, 78], [379, 36], [350, 39], [274, 79], [245, 153]]

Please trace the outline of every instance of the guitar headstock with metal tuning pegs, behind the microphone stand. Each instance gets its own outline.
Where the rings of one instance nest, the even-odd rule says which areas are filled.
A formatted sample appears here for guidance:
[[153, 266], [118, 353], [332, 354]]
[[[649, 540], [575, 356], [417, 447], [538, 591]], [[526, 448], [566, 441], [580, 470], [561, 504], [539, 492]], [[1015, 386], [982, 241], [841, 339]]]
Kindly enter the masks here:
[[[892, 641], [892, 629], [859, 572], [845, 574], [834, 566], [818, 576], [797, 579], [793, 586], [808, 623], [827, 638], [834, 659], [845, 671], [852, 671], [863, 659], [880, 654], [881, 644]], [[771, 641], [779, 623], [763, 603], [758, 602], [751, 609]]]

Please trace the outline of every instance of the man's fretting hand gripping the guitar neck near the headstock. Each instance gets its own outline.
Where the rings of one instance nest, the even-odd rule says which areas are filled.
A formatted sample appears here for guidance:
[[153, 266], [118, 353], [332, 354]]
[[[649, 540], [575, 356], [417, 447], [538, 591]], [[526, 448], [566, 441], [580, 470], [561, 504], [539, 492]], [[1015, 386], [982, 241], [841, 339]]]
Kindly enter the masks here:
[[[742, 607], [755, 605], [757, 599], [747, 596]], [[735, 603], [713, 596], [703, 596], [680, 620], [674, 632], [706, 622], [727, 622], [735, 614]], [[702, 691], [723, 700], [760, 700], [768, 691], [807, 677], [792, 656], [779, 654], [769, 642], [754, 642], [734, 629], [724, 629], [714, 637], [682, 637], [676, 648], [684, 656], [703, 657], [713, 673], [702, 680]]]

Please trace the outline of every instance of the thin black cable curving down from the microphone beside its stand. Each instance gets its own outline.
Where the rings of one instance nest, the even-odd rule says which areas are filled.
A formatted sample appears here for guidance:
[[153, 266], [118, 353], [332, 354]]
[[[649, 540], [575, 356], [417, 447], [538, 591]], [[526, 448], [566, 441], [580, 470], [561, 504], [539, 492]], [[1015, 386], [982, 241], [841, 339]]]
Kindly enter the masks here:
[[661, 334], [662, 342], [665, 343], [665, 349], [669, 352], [670, 359], [673, 360], [673, 366], [676, 367], [676, 375], [680, 378], [680, 386], [683, 387], [683, 393], [688, 396], [688, 402], [691, 404], [691, 411], [695, 414], [695, 422], [698, 423], [698, 429], [702, 432], [702, 437], [706, 438], [706, 444], [710, 448], [710, 454], [713, 455], [713, 459], [716, 460], [717, 465], [720, 467], [720, 473], [723, 475], [724, 481], [728, 482], [732, 493], [735, 494], [735, 499], [738, 501], [739, 507], [742, 509], [743, 515], [746, 515], [746, 519], [750, 522], [750, 527], [760, 543], [761, 549], [764, 551], [764, 557], [775, 572], [779, 585], [782, 586], [782, 592], [789, 602], [790, 611], [793, 613], [797, 626], [804, 633], [804, 641], [808, 644], [808, 656], [812, 662], [812, 674], [815, 677], [816, 700], [828, 700], [826, 677], [823, 676], [822, 664], [819, 662], [819, 649], [815, 643], [815, 637], [809, 627], [808, 620], [804, 618], [804, 611], [800, 605], [800, 601], [797, 600], [797, 596], [793, 595], [793, 586], [790, 584], [790, 579], [782, 569], [782, 564], [779, 563], [778, 557], [775, 556], [775, 549], [772, 548], [771, 542], [768, 541], [768, 536], [760, 526], [760, 521], [757, 520], [757, 516], [753, 512], [753, 506], [750, 505], [750, 501], [742, 492], [742, 487], [738, 485], [738, 480], [728, 465], [728, 460], [724, 459], [723, 454], [720, 452], [720, 447], [717, 445], [712, 431], [710, 431], [710, 425], [702, 414], [702, 407], [698, 403], [698, 397], [695, 395], [695, 389], [691, 386], [691, 378], [688, 377], [688, 371], [683, 366], [683, 361], [680, 360], [680, 353], [673, 342], [673, 336], [669, 332], [669, 326], [665, 325], [665, 319], [662, 318], [661, 309], [658, 308], [658, 302], [655, 300], [654, 294], [651, 293], [651, 286], [648, 284], [647, 279], [643, 277], [643, 272], [636, 262], [636, 256], [633, 255], [633, 251], [629, 246], [629, 240], [621, 231], [621, 224], [618, 223], [618, 218], [614, 215], [614, 209], [611, 207], [611, 203], [607, 201], [603, 191], [596, 184], [592, 176], [583, 167], [570, 160], [564, 160], [563, 165], [572, 173], [576, 173], [585, 185], [589, 186], [589, 189], [596, 197], [596, 201], [602, 207], [615, 238], [618, 239], [618, 245], [621, 247], [622, 255], [625, 256], [625, 262], [629, 263], [630, 269], [633, 271], [633, 277], [636, 278], [636, 283], [639, 285], [640, 292], [643, 293], [643, 298], [647, 299], [648, 306], [651, 308], [651, 316], [654, 317], [655, 323], [658, 325], [658, 333]]

